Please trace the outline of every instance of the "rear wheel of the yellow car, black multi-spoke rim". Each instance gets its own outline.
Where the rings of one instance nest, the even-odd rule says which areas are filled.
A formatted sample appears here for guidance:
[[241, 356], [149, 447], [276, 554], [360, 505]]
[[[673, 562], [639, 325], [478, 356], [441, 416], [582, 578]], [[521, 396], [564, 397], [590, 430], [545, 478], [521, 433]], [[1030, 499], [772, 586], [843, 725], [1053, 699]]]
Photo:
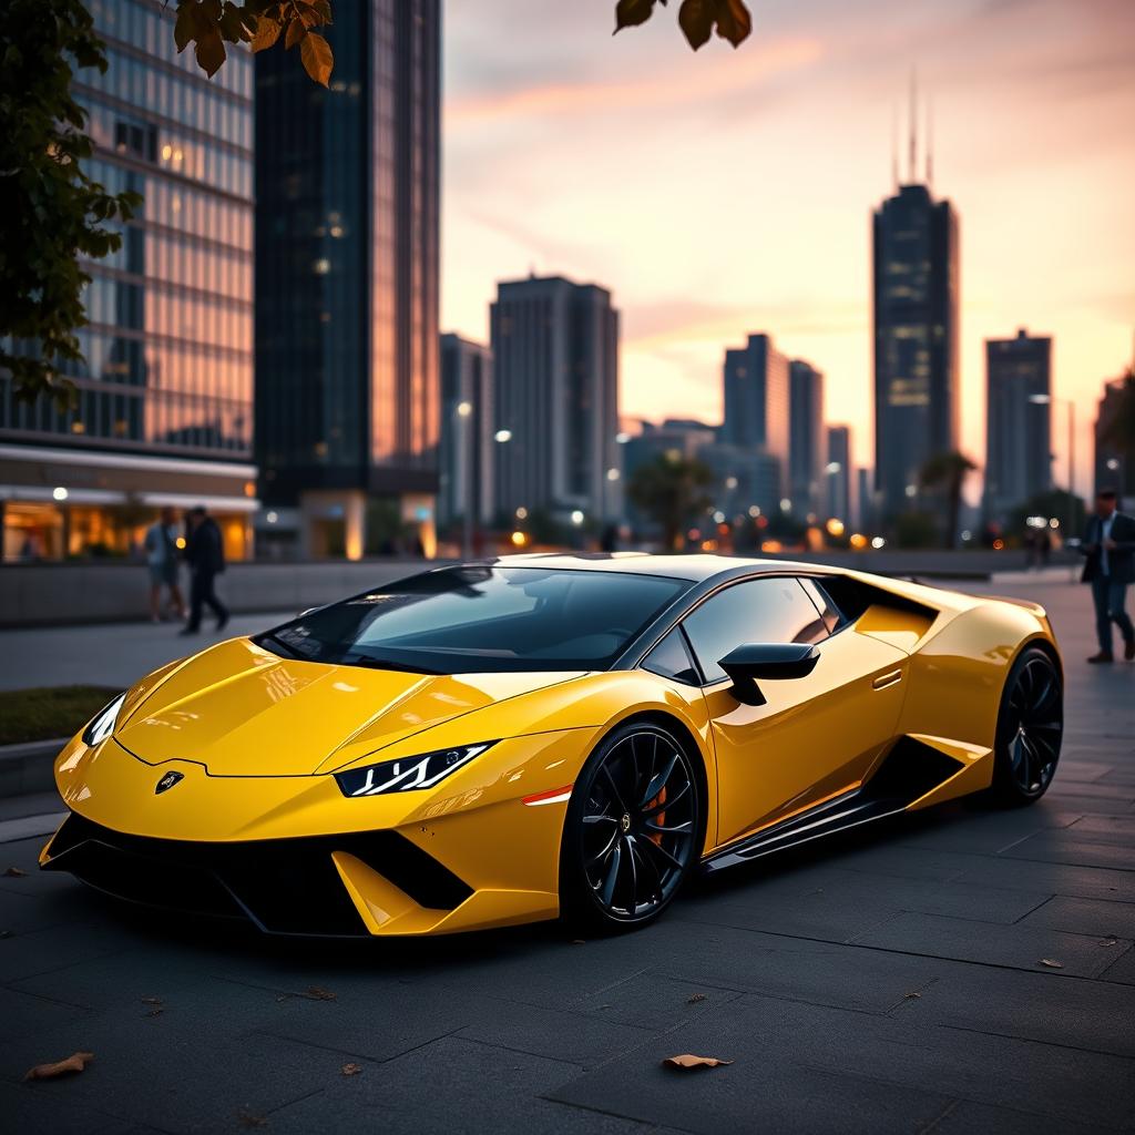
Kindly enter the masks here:
[[997, 720], [993, 797], [1009, 807], [1048, 791], [1060, 760], [1063, 681], [1051, 656], [1027, 647], [1012, 664]]

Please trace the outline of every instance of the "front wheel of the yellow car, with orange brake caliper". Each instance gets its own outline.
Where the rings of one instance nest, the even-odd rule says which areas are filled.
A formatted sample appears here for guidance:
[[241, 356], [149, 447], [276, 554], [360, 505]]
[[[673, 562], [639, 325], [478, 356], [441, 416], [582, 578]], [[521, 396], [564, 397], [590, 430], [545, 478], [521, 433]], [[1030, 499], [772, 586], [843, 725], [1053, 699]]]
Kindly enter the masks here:
[[700, 780], [663, 725], [629, 722], [596, 747], [575, 781], [560, 849], [560, 907], [575, 930], [654, 922], [697, 867]]

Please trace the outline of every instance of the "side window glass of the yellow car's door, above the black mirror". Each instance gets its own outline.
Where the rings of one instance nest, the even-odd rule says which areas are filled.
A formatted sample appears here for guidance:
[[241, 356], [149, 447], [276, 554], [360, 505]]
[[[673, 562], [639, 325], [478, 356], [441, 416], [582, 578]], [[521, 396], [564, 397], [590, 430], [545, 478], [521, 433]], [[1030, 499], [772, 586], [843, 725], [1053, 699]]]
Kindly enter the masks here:
[[796, 579], [754, 579], [706, 599], [683, 623], [706, 681], [725, 676], [717, 665], [743, 642], [818, 642], [827, 631]]

